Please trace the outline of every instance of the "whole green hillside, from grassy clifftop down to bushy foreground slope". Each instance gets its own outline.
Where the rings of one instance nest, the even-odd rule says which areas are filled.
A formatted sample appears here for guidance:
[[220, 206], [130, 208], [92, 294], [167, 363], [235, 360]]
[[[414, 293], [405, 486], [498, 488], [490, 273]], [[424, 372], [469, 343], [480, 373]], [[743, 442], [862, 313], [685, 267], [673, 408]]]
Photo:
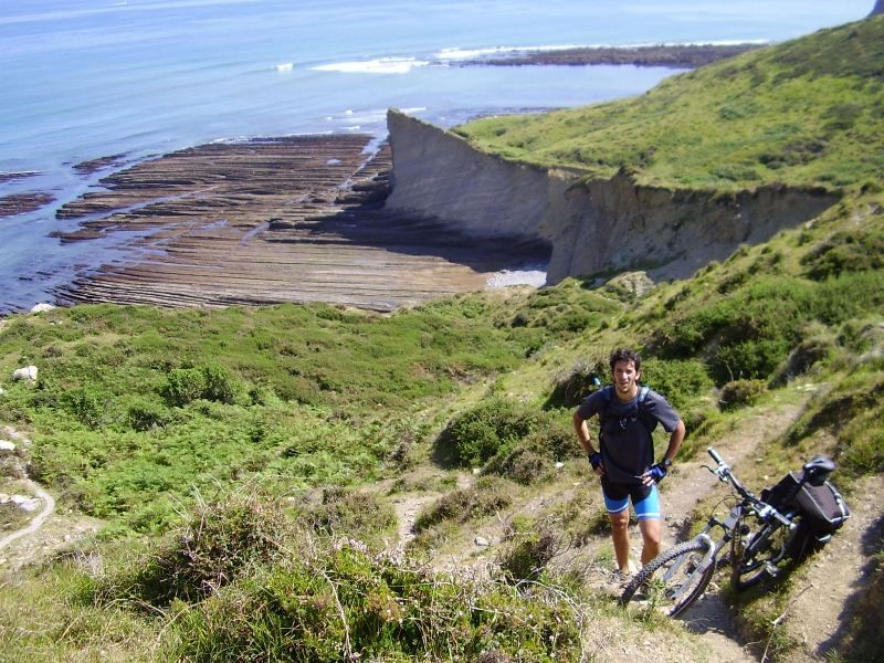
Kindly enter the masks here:
[[[743, 449], [759, 490], [835, 459], [849, 526], [769, 591], [737, 596], [723, 572], [711, 593], [759, 657], [802, 660], [794, 624], [822, 572], [823, 598], [842, 597], [825, 660], [875, 660], [882, 19], [639, 99], [464, 128], [594, 175], [843, 188], [691, 278], [568, 278], [390, 315], [99, 305], [0, 320], [0, 436], [28, 439], [0, 455], [0, 493], [27, 491], [27, 472], [57, 501], [35, 543], [0, 548], [0, 661], [738, 660], [681, 621], [624, 613], [597, 581], [610, 536], [570, 415], [623, 346], [687, 424], [664, 503], [693, 497], [681, 467], [708, 445]], [[35, 382], [9, 379], [28, 365]], [[722, 506], [719, 487], [673, 514], [677, 534]], [[0, 538], [21, 526], [2, 505]]]

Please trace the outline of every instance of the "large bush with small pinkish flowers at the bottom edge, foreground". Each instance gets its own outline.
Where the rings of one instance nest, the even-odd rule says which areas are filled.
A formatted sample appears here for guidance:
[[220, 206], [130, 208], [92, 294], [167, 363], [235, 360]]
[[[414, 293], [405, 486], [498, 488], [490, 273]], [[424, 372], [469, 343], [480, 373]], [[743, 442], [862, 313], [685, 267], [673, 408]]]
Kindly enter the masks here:
[[179, 612], [169, 660], [579, 659], [579, 615], [561, 592], [453, 581], [347, 544], [290, 558]]

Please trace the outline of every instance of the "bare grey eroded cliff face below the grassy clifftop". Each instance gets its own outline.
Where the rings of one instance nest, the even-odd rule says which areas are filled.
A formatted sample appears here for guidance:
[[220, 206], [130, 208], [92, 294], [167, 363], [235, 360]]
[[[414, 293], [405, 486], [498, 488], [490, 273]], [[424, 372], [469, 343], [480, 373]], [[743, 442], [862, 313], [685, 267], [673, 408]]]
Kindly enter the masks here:
[[688, 276], [836, 201], [821, 190], [786, 187], [728, 196], [671, 191], [638, 187], [624, 175], [586, 182], [478, 152], [461, 137], [396, 110], [388, 129], [388, 209], [484, 240], [541, 241], [550, 248], [549, 284], [600, 271]]

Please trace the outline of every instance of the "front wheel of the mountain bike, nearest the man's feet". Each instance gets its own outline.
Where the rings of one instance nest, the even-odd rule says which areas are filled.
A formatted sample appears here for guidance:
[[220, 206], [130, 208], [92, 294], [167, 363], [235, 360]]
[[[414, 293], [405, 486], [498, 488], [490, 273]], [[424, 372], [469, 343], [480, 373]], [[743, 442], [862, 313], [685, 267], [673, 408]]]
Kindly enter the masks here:
[[708, 539], [694, 538], [661, 552], [627, 585], [620, 604], [632, 602], [678, 617], [712, 580], [714, 560], [706, 567], [702, 564], [711, 546]]

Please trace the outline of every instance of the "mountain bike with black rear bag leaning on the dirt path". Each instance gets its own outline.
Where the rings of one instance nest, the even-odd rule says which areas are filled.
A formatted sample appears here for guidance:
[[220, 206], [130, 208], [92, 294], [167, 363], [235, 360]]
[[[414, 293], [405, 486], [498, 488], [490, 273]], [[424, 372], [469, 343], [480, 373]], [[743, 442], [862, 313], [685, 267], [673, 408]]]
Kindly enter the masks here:
[[[703, 530], [652, 559], [627, 585], [620, 604], [641, 603], [677, 617], [694, 603], [709, 585], [716, 569], [730, 562], [730, 585], [745, 590], [762, 580], [776, 578], [808, 552], [822, 547], [831, 532], [815, 526], [813, 518], [796, 505], [796, 496], [810, 486], [825, 486], [834, 463], [815, 456], [803, 466], [801, 476], [787, 475], [761, 497], [748, 491], [730, 466], [712, 446], [708, 454], [716, 466], [704, 465], [719, 481], [727, 483], [736, 503], [722, 520], [713, 514]], [[787, 481], [789, 478], [789, 481]], [[841, 503], [840, 527], [849, 512]], [[832, 529], [832, 532], [834, 530]], [[729, 555], [723, 551], [729, 550]]]

